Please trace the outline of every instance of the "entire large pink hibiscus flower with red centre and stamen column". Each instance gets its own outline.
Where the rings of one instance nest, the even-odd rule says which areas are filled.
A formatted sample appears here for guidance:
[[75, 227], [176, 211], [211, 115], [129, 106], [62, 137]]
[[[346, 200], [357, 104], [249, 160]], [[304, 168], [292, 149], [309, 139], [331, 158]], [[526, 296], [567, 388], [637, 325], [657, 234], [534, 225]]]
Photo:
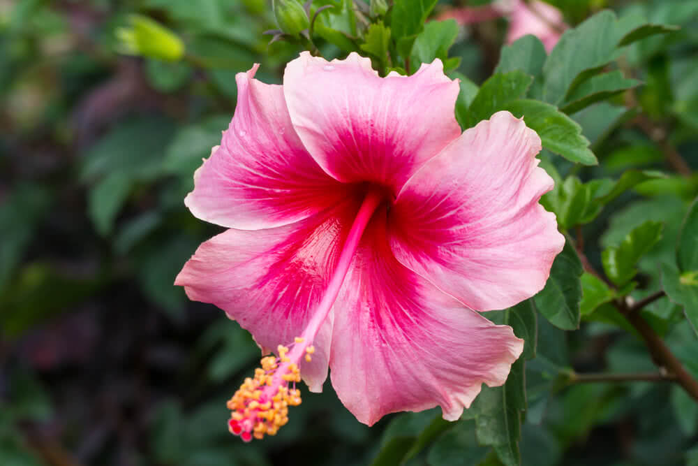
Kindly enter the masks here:
[[276, 433], [295, 384], [321, 391], [328, 366], [363, 423], [437, 405], [459, 418], [523, 349], [476, 311], [540, 291], [563, 247], [538, 203], [553, 187], [540, 138], [509, 112], [461, 134], [438, 60], [380, 78], [358, 54], [303, 52], [283, 86], [257, 68], [237, 75], [235, 116], [185, 200], [230, 229], [175, 282], [276, 349], [228, 402], [230, 431]]

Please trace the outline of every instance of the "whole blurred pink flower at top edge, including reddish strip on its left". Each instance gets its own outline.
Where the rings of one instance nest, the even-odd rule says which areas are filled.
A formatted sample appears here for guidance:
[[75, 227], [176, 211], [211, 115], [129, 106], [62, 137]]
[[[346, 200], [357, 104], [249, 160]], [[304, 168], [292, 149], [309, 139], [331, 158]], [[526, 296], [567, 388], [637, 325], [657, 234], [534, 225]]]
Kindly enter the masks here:
[[540, 39], [547, 52], [555, 47], [562, 31], [567, 29], [560, 10], [539, 0], [530, 3], [523, 0], [498, 0], [486, 6], [449, 8], [436, 19], [454, 19], [459, 24], [473, 24], [502, 16], [509, 17], [507, 43], [512, 43], [526, 34], [533, 34]]

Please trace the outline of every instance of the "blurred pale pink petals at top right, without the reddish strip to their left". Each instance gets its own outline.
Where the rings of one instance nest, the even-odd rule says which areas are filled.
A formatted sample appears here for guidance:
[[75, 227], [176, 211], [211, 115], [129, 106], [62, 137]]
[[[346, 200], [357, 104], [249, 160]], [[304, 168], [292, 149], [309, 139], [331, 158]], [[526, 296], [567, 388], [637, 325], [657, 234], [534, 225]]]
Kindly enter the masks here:
[[560, 40], [560, 29], [566, 27], [562, 12], [554, 6], [544, 1], [534, 0], [527, 5], [517, 0], [510, 16], [507, 43], [512, 43], [526, 34], [533, 34], [540, 39], [545, 50], [550, 52]]

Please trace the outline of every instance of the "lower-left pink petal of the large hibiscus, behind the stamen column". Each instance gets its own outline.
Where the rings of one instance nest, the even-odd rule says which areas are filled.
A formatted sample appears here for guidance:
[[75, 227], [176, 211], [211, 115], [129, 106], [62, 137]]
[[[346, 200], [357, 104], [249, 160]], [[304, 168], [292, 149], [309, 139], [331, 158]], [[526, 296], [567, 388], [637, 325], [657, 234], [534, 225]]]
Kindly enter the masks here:
[[[358, 207], [352, 198], [295, 224], [225, 231], [197, 249], [174, 284], [191, 300], [225, 310], [263, 351], [287, 345], [325, 293]], [[322, 391], [331, 337], [332, 314], [313, 342], [313, 360], [301, 367], [311, 391]]]

